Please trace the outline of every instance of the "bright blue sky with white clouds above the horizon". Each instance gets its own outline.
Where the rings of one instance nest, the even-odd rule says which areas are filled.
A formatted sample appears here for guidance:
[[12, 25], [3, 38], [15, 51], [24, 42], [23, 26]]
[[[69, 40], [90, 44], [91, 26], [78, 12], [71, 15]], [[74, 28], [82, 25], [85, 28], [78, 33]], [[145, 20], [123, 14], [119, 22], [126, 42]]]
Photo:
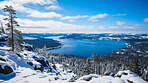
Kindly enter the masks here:
[[5, 5], [23, 33], [148, 33], [148, 0], [0, 0], [3, 25]]

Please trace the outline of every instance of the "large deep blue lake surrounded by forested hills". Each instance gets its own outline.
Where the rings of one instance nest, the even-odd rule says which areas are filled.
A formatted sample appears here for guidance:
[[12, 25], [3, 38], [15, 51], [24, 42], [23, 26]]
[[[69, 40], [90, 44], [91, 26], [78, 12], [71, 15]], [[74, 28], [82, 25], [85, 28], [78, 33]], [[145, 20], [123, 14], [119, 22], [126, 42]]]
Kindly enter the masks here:
[[126, 48], [126, 44], [123, 41], [58, 39], [57, 37], [53, 37], [53, 39], [60, 41], [64, 46], [49, 51], [61, 54], [74, 54], [84, 57], [90, 57], [93, 52], [102, 56], [107, 53], [112, 53], [117, 49]]

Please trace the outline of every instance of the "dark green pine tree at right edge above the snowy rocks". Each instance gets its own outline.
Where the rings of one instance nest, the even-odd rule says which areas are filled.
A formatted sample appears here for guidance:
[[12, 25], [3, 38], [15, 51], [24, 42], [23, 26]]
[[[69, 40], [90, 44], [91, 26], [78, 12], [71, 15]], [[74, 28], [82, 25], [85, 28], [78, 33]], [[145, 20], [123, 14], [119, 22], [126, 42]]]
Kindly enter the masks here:
[[140, 73], [140, 67], [139, 67], [139, 60], [138, 60], [138, 55], [136, 55], [133, 60], [132, 60], [132, 64], [129, 65], [129, 70], [131, 70], [132, 72], [138, 74], [139, 76], [141, 76]]

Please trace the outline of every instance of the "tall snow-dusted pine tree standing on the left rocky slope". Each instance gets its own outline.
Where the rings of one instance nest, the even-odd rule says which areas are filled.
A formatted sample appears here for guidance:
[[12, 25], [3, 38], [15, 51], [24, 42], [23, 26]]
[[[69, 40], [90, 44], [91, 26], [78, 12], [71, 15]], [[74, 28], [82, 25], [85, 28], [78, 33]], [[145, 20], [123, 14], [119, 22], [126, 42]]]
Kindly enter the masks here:
[[21, 31], [16, 30], [15, 26], [19, 26], [18, 22], [15, 21], [15, 14], [16, 11], [13, 9], [12, 6], [7, 6], [3, 9], [4, 12], [8, 12], [8, 18], [5, 18], [4, 20], [7, 20], [8, 23], [7, 25], [7, 31], [8, 31], [8, 39], [6, 41], [7, 45], [10, 45], [12, 47], [12, 51], [22, 51], [23, 46], [22, 46], [22, 36], [21, 36]]

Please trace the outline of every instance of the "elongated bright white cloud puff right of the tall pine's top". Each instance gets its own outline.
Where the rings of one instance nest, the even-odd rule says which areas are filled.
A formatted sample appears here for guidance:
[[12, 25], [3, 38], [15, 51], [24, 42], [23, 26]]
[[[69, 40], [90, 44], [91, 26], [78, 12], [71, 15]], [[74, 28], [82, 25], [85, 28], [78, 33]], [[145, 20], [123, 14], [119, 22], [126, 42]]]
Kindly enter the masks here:
[[54, 17], [62, 17], [61, 14], [57, 14], [55, 12], [39, 12], [33, 11], [28, 17], [35, 17], [35, 18], [54, 18]]

